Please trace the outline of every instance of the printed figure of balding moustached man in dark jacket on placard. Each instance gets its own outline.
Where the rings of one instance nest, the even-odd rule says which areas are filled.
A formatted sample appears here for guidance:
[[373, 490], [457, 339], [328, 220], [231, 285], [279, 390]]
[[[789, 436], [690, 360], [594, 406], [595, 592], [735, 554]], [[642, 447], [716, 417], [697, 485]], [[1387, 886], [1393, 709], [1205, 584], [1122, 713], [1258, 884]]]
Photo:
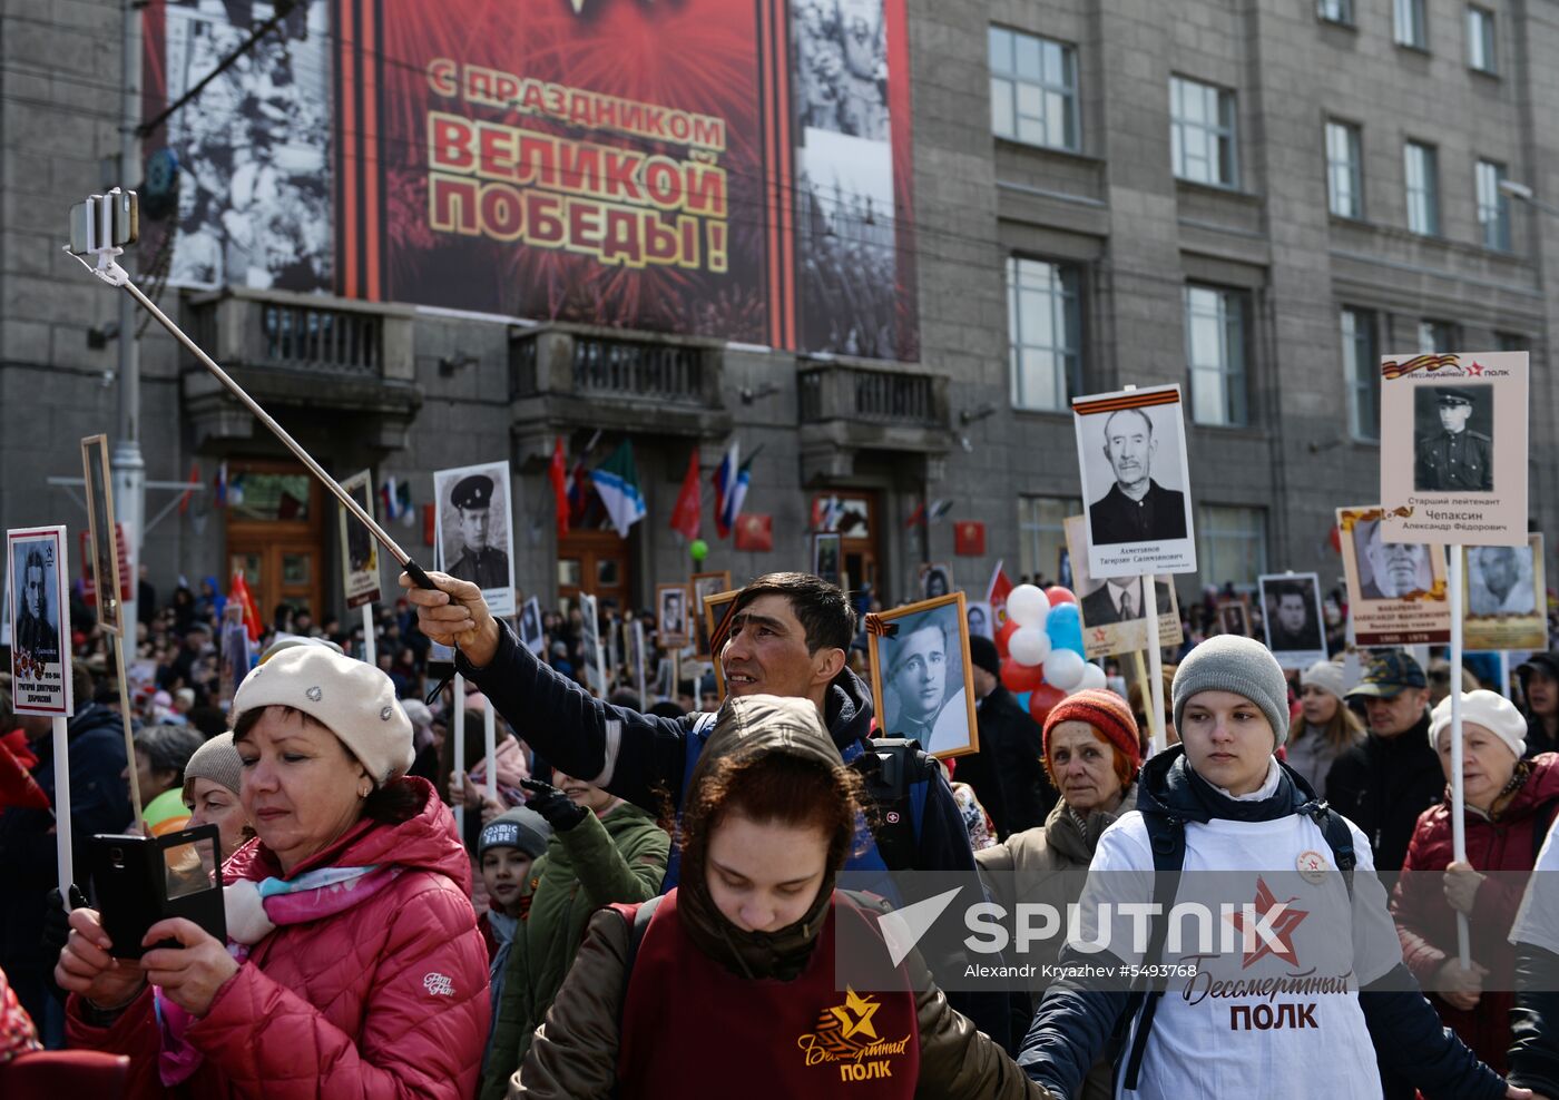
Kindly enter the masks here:
[[1088, 506], [1094, 545], [1185, 538], [1185, 494], [1152, 478], [1157, 452], [1147, 410], [1122, 408], [1104, 419], [1104, 457], [1115, 485]]

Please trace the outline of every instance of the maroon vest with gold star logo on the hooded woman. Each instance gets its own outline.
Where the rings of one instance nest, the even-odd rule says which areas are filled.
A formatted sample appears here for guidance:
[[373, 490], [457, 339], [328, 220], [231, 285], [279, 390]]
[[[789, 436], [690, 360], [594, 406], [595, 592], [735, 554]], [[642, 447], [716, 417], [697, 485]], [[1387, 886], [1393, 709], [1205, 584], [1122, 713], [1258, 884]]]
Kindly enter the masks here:
[[[628, 919], [638, 907], [617, 905]], [[870, 992], [834, 988], [834, 952], [876, 952]], [[848, 957], [848, 955], [847, 955]], [[887, 988], [881, 988], [887, 986]], [[698, 950], [666, 894], [639, 943], [622, 1007], [622, 1095], [903, 1097], [915, 1095], [920, 1033], [915, 994], [892, 968], [876, 922], [834, 893], [812, 958], [794, 982], [747, 980]]]

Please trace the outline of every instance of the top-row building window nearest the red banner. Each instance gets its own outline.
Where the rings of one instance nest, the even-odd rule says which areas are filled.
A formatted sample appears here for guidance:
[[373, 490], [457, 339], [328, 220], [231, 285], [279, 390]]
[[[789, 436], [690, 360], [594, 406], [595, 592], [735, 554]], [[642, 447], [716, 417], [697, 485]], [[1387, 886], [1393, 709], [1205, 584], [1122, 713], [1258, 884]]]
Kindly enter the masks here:
[[996, 137], [1076, 153], [1077, 51], [1037, 34], [992, 26], [990, 126]]

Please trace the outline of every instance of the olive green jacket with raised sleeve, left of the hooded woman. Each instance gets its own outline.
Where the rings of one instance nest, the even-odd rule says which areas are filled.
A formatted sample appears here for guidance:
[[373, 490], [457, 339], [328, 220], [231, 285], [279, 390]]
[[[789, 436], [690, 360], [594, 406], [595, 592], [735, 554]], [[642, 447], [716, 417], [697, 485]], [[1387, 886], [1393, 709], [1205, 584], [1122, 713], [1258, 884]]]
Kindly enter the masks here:
[[656, 894], [672, 838], [655, 818], [619, 802], [603, 818], [585, 816], [553, 832], [530, 871], [530, 908], [514, 929], [504, 972], [493, 1045], [482, 1074], [483, 1100], [502, 1100], [530, 1050], [530, 1036], [574, 963], [589, 915], [611, 902]]

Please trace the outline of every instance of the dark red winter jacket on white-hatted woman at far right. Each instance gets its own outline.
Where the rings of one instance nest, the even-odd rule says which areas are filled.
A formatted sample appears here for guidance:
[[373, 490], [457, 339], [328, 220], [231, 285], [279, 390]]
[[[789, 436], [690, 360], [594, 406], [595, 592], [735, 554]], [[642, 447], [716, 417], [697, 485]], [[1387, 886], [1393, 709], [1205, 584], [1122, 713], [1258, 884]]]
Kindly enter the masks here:
[[[1467, 862], [1475, 871], [1531, 873], [1537, 849], [1559, 809], [1559, 756], [1545, 753], [1522, 763], [1526, 779], [1511, 801], [1494, 815], [1467, 807]], [[1456, 954], [1456, 910], [1445, 901], [1441, 876], [1451, 862], [1451, 799], [1419, 816], [1419, 827], [1408, 846], [1408, 862], [1391, 899], [1397, 919], [1402, 957], [1425, 989], [1447, 958]], [[1412, 874], [1417, 873], [1417, 874]], [[1511, 1045], [1511, 1005], [1514, 997], [1515, 949], [1508, 936], [1522, 904], [1526, 874], [1489, 874], [1473, 901], [1467, 919], [1472, 960], [1487, 968], [1484, 992], [1472, 1011], [1453, 1008], [1430, 997], [1447, 1027], [1456, 1030], [1483, 1061], [1504, 1072]]]

